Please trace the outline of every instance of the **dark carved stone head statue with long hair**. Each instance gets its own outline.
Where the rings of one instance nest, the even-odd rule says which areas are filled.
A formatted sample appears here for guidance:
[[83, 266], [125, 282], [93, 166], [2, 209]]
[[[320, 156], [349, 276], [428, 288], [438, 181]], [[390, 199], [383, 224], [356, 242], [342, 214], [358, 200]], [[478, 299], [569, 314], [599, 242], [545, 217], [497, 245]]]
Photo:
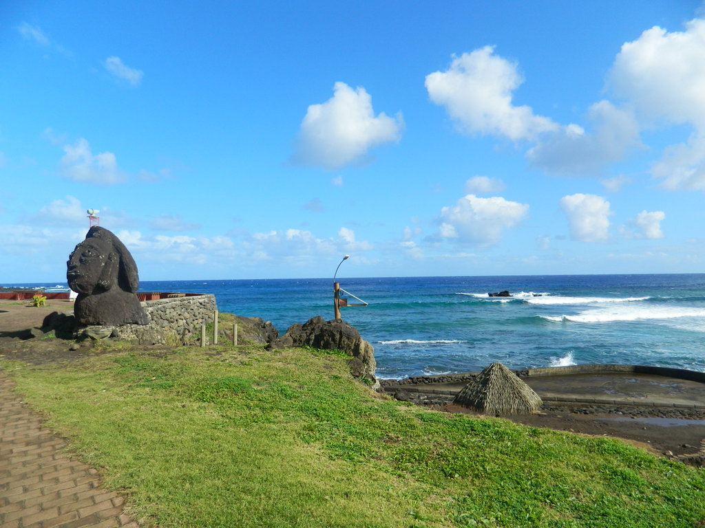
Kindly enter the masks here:
[[68, 285], [78, 293], [73, 313], [79, 327], [147, 325], [135, 295], [140, 286], [130, 251], [109, 230], [93, 226], [66, 263]]

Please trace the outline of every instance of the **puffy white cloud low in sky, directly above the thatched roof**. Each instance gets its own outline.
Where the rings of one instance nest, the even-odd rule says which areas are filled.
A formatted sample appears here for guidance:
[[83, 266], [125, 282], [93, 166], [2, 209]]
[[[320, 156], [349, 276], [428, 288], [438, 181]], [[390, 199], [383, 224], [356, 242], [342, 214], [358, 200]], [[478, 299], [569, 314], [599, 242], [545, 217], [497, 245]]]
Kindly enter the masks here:
[[500, 239], [503, 230], [517, 225], [527, 210], [529, 206], [501, 196], [478, 198], [468, 194], [455, 206], [441, 209], [439, 234], [471, 244], [493, 244]]

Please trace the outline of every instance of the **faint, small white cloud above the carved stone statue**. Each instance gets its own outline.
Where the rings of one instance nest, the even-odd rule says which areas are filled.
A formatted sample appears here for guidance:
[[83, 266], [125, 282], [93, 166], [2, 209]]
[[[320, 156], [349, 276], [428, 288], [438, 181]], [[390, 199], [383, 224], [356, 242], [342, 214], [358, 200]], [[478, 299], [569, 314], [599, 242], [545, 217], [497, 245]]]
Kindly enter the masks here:
[[59, 162], [61, 175], [75, 182], [113, 185], [123, 182], [125, 175], [118, 170], [115, 154], [102, 152], [93, 155], [90, 144], [80, 138], [73, 145], [64, 145], [65, 154]]

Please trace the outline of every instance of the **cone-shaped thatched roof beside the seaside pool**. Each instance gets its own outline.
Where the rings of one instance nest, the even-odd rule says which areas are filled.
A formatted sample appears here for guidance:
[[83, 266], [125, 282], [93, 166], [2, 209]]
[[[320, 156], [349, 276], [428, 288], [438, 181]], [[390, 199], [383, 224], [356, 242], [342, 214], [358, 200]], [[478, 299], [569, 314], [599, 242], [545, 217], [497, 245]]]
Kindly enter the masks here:
[[510, 415], [534, 413], [543, 402], [514, 372], [492, 363], [462, 388], [453, 403], [481, 413]]

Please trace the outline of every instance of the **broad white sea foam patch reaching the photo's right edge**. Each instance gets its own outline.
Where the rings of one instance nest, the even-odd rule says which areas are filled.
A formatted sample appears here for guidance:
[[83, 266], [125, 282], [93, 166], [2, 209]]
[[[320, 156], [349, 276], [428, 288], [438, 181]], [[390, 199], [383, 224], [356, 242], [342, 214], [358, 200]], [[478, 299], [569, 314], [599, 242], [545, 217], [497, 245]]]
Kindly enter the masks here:
[[637, 320], [668, 320], [676, 318], [705, 317], [705, 308], [677, 306], [611, 306], [585, 310], [575, 315], [539, 315], [540, 318], [553, 322], [615, 322]]

